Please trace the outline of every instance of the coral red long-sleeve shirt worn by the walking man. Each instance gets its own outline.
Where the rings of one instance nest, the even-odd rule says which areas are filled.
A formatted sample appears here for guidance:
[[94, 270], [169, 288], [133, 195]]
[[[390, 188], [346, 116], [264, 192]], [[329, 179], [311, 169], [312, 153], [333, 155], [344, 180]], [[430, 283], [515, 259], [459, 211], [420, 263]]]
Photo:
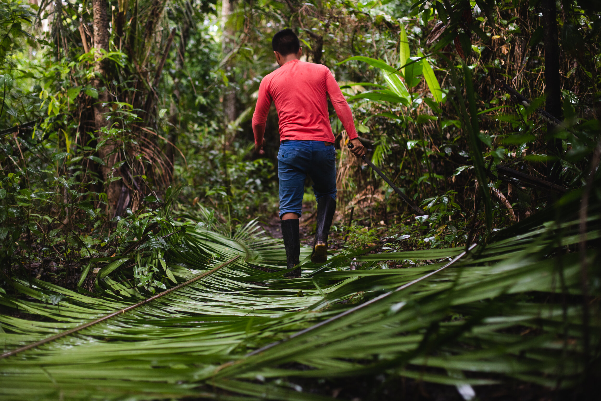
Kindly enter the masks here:
[[280, 141], [334, 142], [328, 97], [349, 139], [355, 139], [353, 114], [328, 67], [292, 60], [266, 75], [259, 85], [257, 106], [252, 115], [255, 144], [263, 142], [272, 101], [278, 111]]

